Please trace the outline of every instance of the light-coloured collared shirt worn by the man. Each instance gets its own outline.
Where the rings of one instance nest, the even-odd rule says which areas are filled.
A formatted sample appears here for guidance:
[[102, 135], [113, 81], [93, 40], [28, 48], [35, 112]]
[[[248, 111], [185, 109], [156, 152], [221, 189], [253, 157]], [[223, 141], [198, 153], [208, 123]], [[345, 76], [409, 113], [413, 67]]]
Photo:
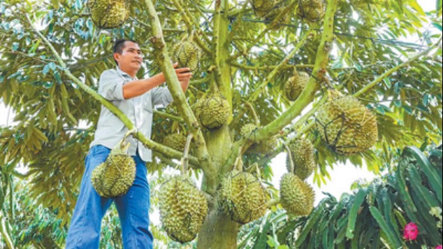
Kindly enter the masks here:
[[[99, 80], [99, 94], [108, 99], [112, 104], [117, 106], [128, 118], [133, 122], [138, 131], [141, 131], [147, 138], [151, 137], [152, 130], [152, 106], [167, 106], [173, 101], [172, 96], [167, 87], [154, 87], [152, 90], [144, 94], [124, 99], [123, 85], [137, 78], [131, 78], [127, 73], [120, 69], [109, 69], [103, 71]], [[108, 108], [101, 106], [101, 112], [97, 129], [90, 147], [94, 145], [103, 145], [107, 148], [114, 148], [115, 145], [123, 138], [128, 128], [119, 118], [111, 113]], [[138, 154], [145, 162], [152, 160], [152, 151], [145, 148], [143, 143], [136, 140], [132, 136], [126, 139], [129, 145], [129, 155]]]

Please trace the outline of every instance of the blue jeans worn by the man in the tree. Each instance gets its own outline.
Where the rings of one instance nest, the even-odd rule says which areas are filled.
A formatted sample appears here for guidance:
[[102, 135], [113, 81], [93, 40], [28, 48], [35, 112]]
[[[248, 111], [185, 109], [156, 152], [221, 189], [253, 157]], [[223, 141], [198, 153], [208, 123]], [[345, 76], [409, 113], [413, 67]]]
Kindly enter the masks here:
[[105, 162], [109, 148], [95, 145], [85, 160], [85, 174], [80, 185], [80, 194], [66, 238], [66, 248], [99, 248], [101, 220], [112, 201], [115, 201], [122, 225], [123, 246], [126, 249], [152, 249], [152, 234], [149, 230], [150, 186], [147, 183], [145, 162], [139, 155], [136, 162], [136, 180], [129, 191], [116, 198], [100, 197], [91, 183], [91, 173]]

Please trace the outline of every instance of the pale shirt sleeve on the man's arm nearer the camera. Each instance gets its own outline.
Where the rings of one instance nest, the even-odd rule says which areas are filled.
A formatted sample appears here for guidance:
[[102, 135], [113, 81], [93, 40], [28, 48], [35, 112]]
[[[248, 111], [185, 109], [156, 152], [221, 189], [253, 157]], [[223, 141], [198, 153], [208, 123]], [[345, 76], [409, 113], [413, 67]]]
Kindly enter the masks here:
[[110, 101], [124, 100], [123, 84], [125, 82], [115, 69], [106, 70], [100, 76], [99, 94]]

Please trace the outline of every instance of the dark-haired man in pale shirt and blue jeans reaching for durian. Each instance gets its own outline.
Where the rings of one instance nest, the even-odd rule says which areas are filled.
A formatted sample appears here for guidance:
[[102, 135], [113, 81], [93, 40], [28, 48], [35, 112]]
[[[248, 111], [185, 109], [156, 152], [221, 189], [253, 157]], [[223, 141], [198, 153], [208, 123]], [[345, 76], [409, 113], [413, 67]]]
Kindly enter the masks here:
[[[141, 67], [143, 55], [135, 41], [118, 40], [113, 48], [117, 69], [106, 70], [99, 80], [99, 94], [117, 106], [133, 122], [136, 128], [150, 138], [152, 106], [168, 105], [173, 101], [166, 87], [163, 73], [152, 78], [138, 80], [136, 73]], [[177, 64], [174, 64], [177, 66]], [[192, 74], [188, 68], [175, 69], [177, 78], [186, 91]], [[116, 198], [100, 197], [91, 183], [92, 170], [108, 157], [110, 150], [126, 134], [127, 128], [102, 106], [94, 141], [85, 159], [85, 173], [80, 194], [66, 239], [66, 248], [99, 248], [101, 220], [112, 201], [115, 201], [122, 225], [123, 246], [129, 248], [152, 248], [149, 230], [150, 187], [147, 183], [145, 162], [151, 160], [151, 150], [129, 137], [129, 155], [136, 162], [136, 179], [129, 191]]]

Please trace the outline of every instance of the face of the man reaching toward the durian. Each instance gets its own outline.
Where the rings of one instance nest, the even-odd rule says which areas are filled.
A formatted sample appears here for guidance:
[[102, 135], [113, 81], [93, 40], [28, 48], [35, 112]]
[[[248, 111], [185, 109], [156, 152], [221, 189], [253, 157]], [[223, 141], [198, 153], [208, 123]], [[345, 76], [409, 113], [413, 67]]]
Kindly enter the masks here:
[[114, 53], [114, 59], [118, 62], [122, 71], [137, 72], [142, 65], [143, 55], [137, 43], [125, 41], [122, 54]]

